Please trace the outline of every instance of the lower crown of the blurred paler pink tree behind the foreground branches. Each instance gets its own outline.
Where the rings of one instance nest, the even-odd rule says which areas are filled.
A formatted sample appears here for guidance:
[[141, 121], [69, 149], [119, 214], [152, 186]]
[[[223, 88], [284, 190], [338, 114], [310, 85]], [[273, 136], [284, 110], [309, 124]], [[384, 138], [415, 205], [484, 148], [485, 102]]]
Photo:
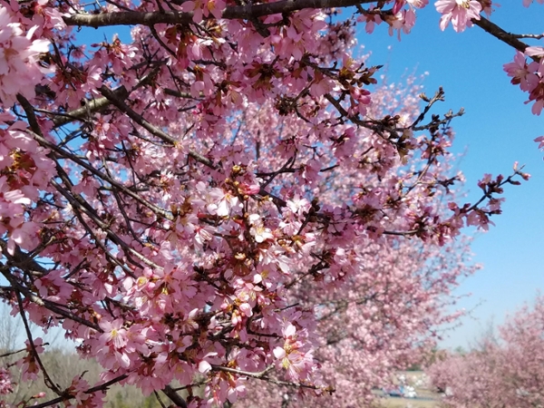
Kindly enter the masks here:
[[[335, 389], [319, 394], [314, 403], [368, 406], [373, 389], [389, 386], [399, 369], [420, 362], [438, 338], [437, 326], [456, 317], [443, 313], [446, 305], [440, 300], [452, 282], [470, 271], [458, 258], [460, 248], [439, 254], [437, 248], [417, 248], [407, 241], [399, 245], [364, 248], [364, 267], [342, 285], [299, 288], [296, 299], [316, 310], [320, 374]], [[249, 381], [239, 406], [304, 407], [315, 398], [286, 384]]]

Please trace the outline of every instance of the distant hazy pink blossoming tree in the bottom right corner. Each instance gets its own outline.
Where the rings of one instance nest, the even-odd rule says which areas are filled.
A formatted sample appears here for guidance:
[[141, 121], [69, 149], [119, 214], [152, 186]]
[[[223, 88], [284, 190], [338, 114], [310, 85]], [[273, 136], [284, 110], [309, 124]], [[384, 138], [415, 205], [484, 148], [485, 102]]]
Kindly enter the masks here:
[[465, 355], [449, 355], [429, 369], [432, 383], [449, 392], [452, 407], [527, 407], [544, 403], [544, 297], [523, 306]]

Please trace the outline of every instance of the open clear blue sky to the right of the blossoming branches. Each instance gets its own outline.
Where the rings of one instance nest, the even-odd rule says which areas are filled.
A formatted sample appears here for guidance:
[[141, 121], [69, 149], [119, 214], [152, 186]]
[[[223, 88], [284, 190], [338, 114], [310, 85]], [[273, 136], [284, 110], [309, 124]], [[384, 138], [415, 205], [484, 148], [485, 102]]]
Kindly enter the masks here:
[[[521, 0], [500, 3], [491, 21], [506, 31], [544, 32], [544, 6], [524, 8]], [[414, 68], [417, 73], [428, 72], [427, 94], [438, 86], [446, 92], [446, 102], [438, 109], [465, 108], [466, 114], [453, 122], [453, 128], [454, 151], [467, 149], [460, 169], [467, 179], [468, 199], [479, 193], [476, 182], [483, 173], [508, 175], [516, 160], [532, 176], [521, 186], [506, 189], [503, 214], [492, 219], [496, 227], [479, 234], [472, 245], [474, 260], [484, 269], [463, 281], [457, 294], [471, 293], [458, 306], [473, 310], [442, 342], [445, 347], [466, 347], [491, 319], [500, 324], [508, 312], [530, 301], [538, 290], [544, 291], [544, 152], [533, 141], [544, 135], [544, 116], [531, 114], [530, 104], [523, 103], [528, 94], [511, 85], [502, 71], [502, 64], [513, 58], [512, 48], [476, 26], [459, 34], [451, 26], [442, 32], [439, 17], [429, 5], [401, 42], [388, 35], [385, 24], [370, 35], [361, 25], [357, 38], [366, 52], [372, 52], [370, 64], [388, 64], [390, 82]]]

